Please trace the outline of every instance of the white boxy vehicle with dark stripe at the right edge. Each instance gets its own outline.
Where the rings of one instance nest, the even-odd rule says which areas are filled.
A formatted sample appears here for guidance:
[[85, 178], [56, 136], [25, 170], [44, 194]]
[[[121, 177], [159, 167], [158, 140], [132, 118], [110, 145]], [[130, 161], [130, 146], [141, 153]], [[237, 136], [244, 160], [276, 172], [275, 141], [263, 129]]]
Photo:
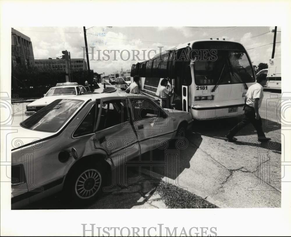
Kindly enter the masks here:
[[269, 59], [267, 88], [281, 90], [281, 58]]

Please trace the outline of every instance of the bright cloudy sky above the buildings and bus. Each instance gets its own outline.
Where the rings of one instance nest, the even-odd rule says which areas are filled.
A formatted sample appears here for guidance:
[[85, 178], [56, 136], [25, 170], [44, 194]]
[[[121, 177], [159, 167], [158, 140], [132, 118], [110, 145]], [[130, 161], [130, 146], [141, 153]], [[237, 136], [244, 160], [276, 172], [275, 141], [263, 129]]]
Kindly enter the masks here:
[[[145, 60], [148, 59], [150, 50], [159, 51], [170, 49], [180, 43], [191, 40], [225, 38], [240, 42], [247, 49], [253, 64], [260, 62], [267, 63], [272, 56], [272, 44], [274, 33], [270, 31], [274, 26], [266, 27], [99, 27], [86, 26], [88, 47], [94, 48], [94, 60], [90, 60], [90, 68], [97, 73], [109, 74], [116, 70], [130, 69], [133, 63], [132, 50], [146, 50]], [[31, 38], [35, 59], [55, 58], [61, 56], [61, 51], [67, 50], [71, 53], [71, 58], [86, 58], [83, 54], [84, 33], [83, 27], [14, 27], [16, 30]], [[281, 31], [280, 27], [277, 27]], [[281, 32], [277, 33], [276, 42], [281, 42]], [[269, 45], [266, 45], [269, 44]], [[266, 46], [263, 46], [266, 45]], [[260, 47], [261, 46], [261, 47]], [[98, 52], [100, 51], [100, 59]], [[126, 51], [121, 55], [116, 51], [109, 53], [110, 59], [103, 55], [104, 50], [128, 50], [131, 55], [128, 58]], [[91, 49], [89, 48], [89, 52]], [[107, 52], [106, 52], [107, 53]], [[150, 51], [150, 56], [155, 55]], [[102, 60], [104, 57], [105, 60]], [[143, 52], [139, 54], [143, 58]], [[281, 43], [276, 44], [275, 58], [281, 57]], [[91, 56], [90, 56], [91, 59]]]

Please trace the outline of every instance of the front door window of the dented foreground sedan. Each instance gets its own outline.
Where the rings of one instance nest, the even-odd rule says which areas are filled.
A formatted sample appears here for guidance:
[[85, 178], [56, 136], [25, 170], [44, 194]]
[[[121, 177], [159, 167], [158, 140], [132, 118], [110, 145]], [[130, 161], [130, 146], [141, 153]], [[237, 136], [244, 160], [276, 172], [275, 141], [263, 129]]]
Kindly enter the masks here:
[[132, 119], [139, 121], [161, 117], [161, 109], [152, 99], [132, 99]]

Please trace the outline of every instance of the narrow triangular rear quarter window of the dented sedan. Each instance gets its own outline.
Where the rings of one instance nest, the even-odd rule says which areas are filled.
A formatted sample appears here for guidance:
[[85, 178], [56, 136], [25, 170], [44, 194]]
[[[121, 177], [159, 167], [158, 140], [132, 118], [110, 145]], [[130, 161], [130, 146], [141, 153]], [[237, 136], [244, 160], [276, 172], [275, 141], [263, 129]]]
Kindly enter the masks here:
[[[96, 107], [97, 107], [97, 111], [96, 111]], [[80, 136], [94, 133], [94, 126], [95, 126], [95, 121], [96, 121], [95, 118], [98, 112], [99, 112], [99, 107], [98, 105], [96, 106], [96, 104], [94, 104], [93, 107], [90, 109], [89, 113], [85, 116], [83, 121], [80, 123], [80, 125], [74, 132], [73, 137], [80, 137]]]

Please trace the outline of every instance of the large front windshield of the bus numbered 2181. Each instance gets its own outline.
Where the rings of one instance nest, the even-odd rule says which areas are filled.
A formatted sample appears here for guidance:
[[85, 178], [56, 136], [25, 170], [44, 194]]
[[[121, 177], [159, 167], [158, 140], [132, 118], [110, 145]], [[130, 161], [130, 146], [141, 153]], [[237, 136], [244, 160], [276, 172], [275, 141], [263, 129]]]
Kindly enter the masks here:
[[196, 85], [215, 85], [219, 78], [221, 84], [254, 82], [251, 63], [242, 50], [217, 50], [214, 61], [197, 60], [194, 62]]

